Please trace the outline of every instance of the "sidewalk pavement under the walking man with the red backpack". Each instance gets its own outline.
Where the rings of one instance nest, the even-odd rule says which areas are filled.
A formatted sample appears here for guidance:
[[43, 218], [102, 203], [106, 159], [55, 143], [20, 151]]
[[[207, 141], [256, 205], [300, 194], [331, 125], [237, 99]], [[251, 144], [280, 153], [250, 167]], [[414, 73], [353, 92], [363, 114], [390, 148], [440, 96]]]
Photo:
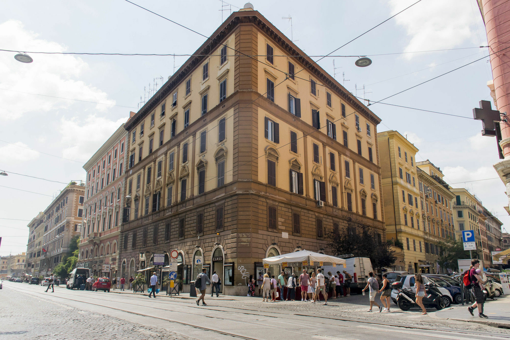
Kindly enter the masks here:
[[455, 305], [433, 313], [429, 313], [430, 317], [437, 319], [451, 319], [456, 321], [475, 322], [488, 326], [510, 329], [510, 295], [502, 295], [496, 300], [488, 299], [483, 304], [483, 313], [489, 319], [478, 317], [478, 310], [474, 310], [475, 316], [472, 317], [467, 310], [469, 305]]

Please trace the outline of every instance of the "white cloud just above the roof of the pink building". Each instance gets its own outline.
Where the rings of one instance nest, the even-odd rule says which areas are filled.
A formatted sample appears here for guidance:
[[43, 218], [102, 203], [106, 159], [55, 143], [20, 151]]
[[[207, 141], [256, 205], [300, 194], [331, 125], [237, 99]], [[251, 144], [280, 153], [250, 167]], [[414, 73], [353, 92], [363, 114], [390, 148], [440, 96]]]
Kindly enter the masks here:
[[63, 117], [59, 127], [61, 143], [66, 145], [63, 157], [87, 161], [126, 120], [121, 118], [114, 122], [95, 115], [84, 120]]

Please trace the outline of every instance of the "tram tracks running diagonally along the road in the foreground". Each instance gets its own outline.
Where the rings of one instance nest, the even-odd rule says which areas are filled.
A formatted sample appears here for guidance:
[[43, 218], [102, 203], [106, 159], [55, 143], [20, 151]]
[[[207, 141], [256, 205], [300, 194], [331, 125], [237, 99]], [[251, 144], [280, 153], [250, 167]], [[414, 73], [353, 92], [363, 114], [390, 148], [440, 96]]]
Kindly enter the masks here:
[[[22, 289], [24, 290], [25, 292], [32, 292], [31, 290], [26, 290], [26, 289]], [[93, 296], [90, 296], [89, 294], [87, 293], [82, 293], [81, 291], [75, 291], [76, 293], [81, 293], [78, 295], [78, 297], [81, 297], [81, 298], [95, 298]], [[70, 292], [68, 292], [67, 290], [64, 291], [64, 293], [60, 293], [59, 295], [66, 295], [66, 296], [72, 296], [72, 297], [77, 297], [77, 295], [75, 294], [69, 294]], [[119, 296], [120, 295], [116, 295], [116, 296]], [[140, 301], [140, 297], [141, 296], [123, 296], [122, 299], [124, 301], [111, 301], [111, 302], [115, 302], [115, 303], [121, 303], [121, 304], [127, 304], [127, 305], [134, 305], [134, 306], [140, 306], [139, 303], [132, 303], [132, 302], [135, 302], [135, 301]], [[78, 301], [78, 302], [83, 302], [83, 303], [88, 303], [88, 304], [92, 304], [92, 305], [98, 305], [98, 306], [102, 306], [102, 307], [107, 307], [107, 308], [113, 308], [113, 309], [117, 309], [115, 307], [109, 307], [109, 306], [103, 306], [103, 305], [99, 305], [99, 304], [94, 304], [94, 303], [91, 303], [91, 302], [85, 302], [85, 301], [81, 301], [81, 300], [74, 300], [74, 299], [70, 299], [70, 298], [63, 298], [61, 297], [62, 299], [67, 299], [67, 300], [71, 300], [71, 301]], [[126, 302], [125, 300], [129, 300], [131, 302]], [[214, 301], [214, 300], [212, 300]], [[461, 330], [444, 330], [444, 329], [437, 329], [437, 325], [434, 324], [434, 323], [430, 323], [431, 324], [431, 328], [426, 328], [426, 327], [417, 327], [417, 326], [410, 326], [410, 325], [402, 325], [402, 324], [388, 324], [388, 323], [378, 323], [378, 322], [371, 322], [371, 321], [364, 321], [364, 320], [350, 320], [350, 319], [338, 319], [338, 318], [331, 318], [331, 317], [322, 317], [322, 316], [318, 316], [318, 315], [307, 315], [307, 314], [298, 314], [298, 313], [285, 313], [285, 312], [277, 312], [277, 311], [259, 311], [259, 312], [262, 312], [262, 313], [265, 313], [265, 314], [278, 314], [279, 316], [276, 316], [276, 315], [265, 315], [265, 314], [259, 314], [259, 313], [256, 313], [256, 312], [252, 312], [253, 310], [251, 309], [247, 309], [247, 308], [240, 308], [240, 307], [228, 307], [228, 306], [219, 306], [219, 305], [214, 305], [214, 306], [211, 306], [211, 305], [208, 305], [208, 306], [194, 306], [194, 302], [187, 302], [187, 301], [178, 301], [178, 300], [171, 300], [171, 301], [156, 301], [156, 300], [152, 300], [152, 304], [158, 304], [158, 306], [161, 306], [161, 305], [165, 305], [165, 306], [168, 306], [168, 303], [169, 302], [172, 302], [172, 303], [178, 303], [180, 304], [181, 306], [185, 306], [185, 307], [189, 307], [189, 308], [197, 308], [197, 309], [206, 309], [206, 310], [210, 310], [210, 311], [222, 311], [222, 312], [226, 312], [226, 313], [239, 313], [238, 311], [233, 311], [233, 310], [219, 310], [218, 308], [223, 308], [223, 309], [235, 309], [235, 310], [243, 310], [244, 312], [241, 312], [243, 314], [246, 314], [246, 315], [253, 315], [253, 316], [258, 316], [258, 317], [263, 317], [263, 318], [287, 318], [289, 321], [298, 321], [298, 322], [310, 322], [310, 320], [303, 320], [303, 319], [291, 319], [289, 317], [292, 317], [292, 316], [298, 316], [298, 317], [305, 317], [305, 318], [318, 318], [318, 319], [328, 319], [328, 320], [335, 320], [335, 321], [338, 321], [338, 322], [348, 322], [348, 323], [363, 323], [363, 324], [367, 324], [367, 325], [374, 325], [374, 326], [385, 326], [385, 327], [396, 327], [396, 328], [403, 328], [403, 329], [409, 329], [409, 330], [412, 330], [412, 329], [415, 329], [415, 330], [421, 330], [421, 331], [441, 331], [441, 332], [446, 332], [446, 333], [450, 333], [450, 334], [462, 334], [463, 337], [460, 337], [461, 339], [465, 338], [466, 335], [484, 335], [484, 336], [489, 336], [488, 334], [483, 334], [483, 333], [473, 333], [473, 332], [465, 332], [465, 331], [461, 331]], [[163, 311], [168, 311], [168, 312], [173, 312], [174, 310], [172, 309], [167, 309], [167, 308], [161, 308], [161, 307], [158, 307], [158, 309], [160, 310], [163, 310]], [[122, 310], [122, 311], [125, 311], [123, 309], [118, 309], [118, 310]], [[245, 312], [245, 311], [248, 311], [248, 312]], [[130, 311], [126, 311], [126, 312], [130, 312]], [[194, 312], [186, 312], [186, 311], [180, 311], [181, 313], [188, 313], [188, 314], [193, 314], [193, 315], [196, 315], [196, 313]], [[132, 313], [135, 313], [135, 314], [139, 314], [139, 313], [136, 313], [136, 312], [132, 312]], [[150, 315], [145, 315], [145, 314], [139, 314], [139, 315], [144, 315], [144, 316], [148, 316], [150, 317]], [[215, 316], [209, 316], [209, 315], [202, 315], [203, 317], [207, 317], [207, 318], [212, 318], [212, 319], [220, 319], [220, 320], [225, 320], [225, 321], [234, 321], [234, 322], [239, 322], [240, 320], [239, 319], [229, 319], [229, 318], [222, 318], [222, 317], [215, 317]], [[188, 325], [188, 326], [192, 326], [192, 327], [195, 327], [194, 325], [191, 325], [191, 324], [186, 324], [186, 323], [182, 323], [182, 322], [179, 322], [179, 321], [175, 321], [175, 320], [169, 320], [169, 319], [164, 319], [164, 318], [158, 318], [156, 317], [157, 319], [161, 319], [161, 320], [166, 320], [166, 321], [169, 321], [169, 322], [176, 322], [176, 323], [181, 323], [183, 325]], [[255, 323], [255, 322], [249, 322], [249, 321], [243, 321], [244, 323], [249, 323], [249, 324], [253, 324], [253, 325], [257, 325], [257, 326], [268, 326], [266, 324], [261, 324], [261, 323]], [[315, 324], [322, 324], [322, 325], [329, 325], [329, 326], [336, 326], [336, 327], [356, 327], [356, 328], [364, 328], [364, 329], [367, 329], [367, 330], [374, 330], [375, 328], [373, 327], [370, 327], [370, 326], [361, 326], [361, 325], [340, 325], [338, 323], [327, 323], [327, 322], [323, 322], [323, 321], [314, 321]], [[428, 323], [428, 322], [426, 322]], [[433, 326], [436, 326], [436, 327], [433, 327]], [[310, 334], [310, 335], [315, 335], [315, 336], [325, 336], [323, 334], [318, 334], [318, 333], [313, 333], [313, 332], [306, 332], [306, 331], [302, 331], [302, 330], [293, 330], [293, 329], [288, 329], [288, 328], [285, 328], [285, 327], [279, 327], [279, 326], [270, 326], [270, 327], [275, 327], [275, 328], [280, 328], [280, 329], [284, 329], [284, 330], [287, 330], [287, 331], [295, 331], [295, 332], [299, 332], [299, 333], [306, 333], [306, 334]], [[200, 329], [206, 329], [206, 328], [202, 328], [202, 327], [197, 327], [197, 328], [200, 328]], [[395, 332], [395, 333], [402, 333], [403, 331], [402, 330], [392, 330], [392, 329], [381, 329], [381, 328], [376, 328], [377, 330], [379, 331], [385, 331], [385, 332]], [[207, 329], [209, 330], [209, 329]], [[215, 330], [212, 330], [212, 331], [215, 331]], [[221, 331], [219, 331], [221, 332]], [[403, 333], [413, 333], [413, 332], [410, 332], [410, 331], [405, 331]], [[416, 332], [414, 332], [416, 333]], [[466, 334], [466, 335], [465, 335]], [[229, 334], [225, 334], [225, 335], [231, 335], [230, 333]], [[416, 333], [416, 335], [424, 335], [422, 333]], [[237, 335], [236, 335], [237, 336]], [[427, 334], [426, 336], [428, 337], [442, 337], [442, 338], [451, 338], [451, 339], [456, 339], [457, 337], [448, 337], [448, 336], [436, 336], [434, 334]], [[496, 338], [502, 338], [502, 339], [510, 339], [510, 336], [506, 336], [506, 335], [499, 335], [499, 334], [490, 334], [491, 337], [496, 337]], [[243, 337], [243, 336], [241, 336]], [[334, 336], [329, 336], [329, 337], [332, 337], [332, 338], [335, 338]], [[247, 337], [243, 337], [243, 338], [247, 338]], [[338, 337], [337, 337], [338, 338]]]

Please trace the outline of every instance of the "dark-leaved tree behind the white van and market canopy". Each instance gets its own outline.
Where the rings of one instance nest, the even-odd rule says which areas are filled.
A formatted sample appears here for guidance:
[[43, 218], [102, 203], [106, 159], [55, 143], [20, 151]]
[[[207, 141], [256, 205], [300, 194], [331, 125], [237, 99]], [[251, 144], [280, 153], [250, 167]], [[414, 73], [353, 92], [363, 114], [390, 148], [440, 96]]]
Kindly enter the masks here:
[[373, 268], [391, 266], [397, 259], [391, 242], [379, 242], [374, 229], [361, 223], [349, 221], [346, 228], [330, 232], [328, 238], [328, 247], [335, 256], [368, 257]]

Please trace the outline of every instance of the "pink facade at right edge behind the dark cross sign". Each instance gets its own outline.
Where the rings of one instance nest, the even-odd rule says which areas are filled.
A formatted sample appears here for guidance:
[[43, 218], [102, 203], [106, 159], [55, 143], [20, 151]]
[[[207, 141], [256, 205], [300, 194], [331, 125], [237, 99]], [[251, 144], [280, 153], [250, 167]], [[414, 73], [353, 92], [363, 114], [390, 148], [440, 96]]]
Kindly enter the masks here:
[[[496, 110], [501, 113], [501, 141], [504, 159], [494, 168], [506, 186], [510, 200], [510, 2], [508, 0], [478, 0], [485, 23], [493, 81], [488, 82]], [[506, 114], [506, 116], [505, 116]], [[485, 123], [486, 125], [488, 122]], [[492, 126], [492, 124], [491, 124]], [[505, 207], [508, 213], [508, 206]]]

